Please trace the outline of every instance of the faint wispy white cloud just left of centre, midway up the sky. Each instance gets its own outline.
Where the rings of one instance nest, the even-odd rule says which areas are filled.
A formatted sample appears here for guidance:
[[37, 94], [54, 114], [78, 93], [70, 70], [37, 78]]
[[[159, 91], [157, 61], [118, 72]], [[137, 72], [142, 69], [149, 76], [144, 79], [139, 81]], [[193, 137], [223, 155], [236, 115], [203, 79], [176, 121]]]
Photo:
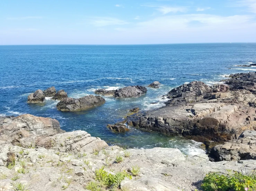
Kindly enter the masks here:
[[111, 26], [111, 25], [123, 25], [128, 24], [128, 22], [125, 22], [120, 19], [111, 18], [111, 17], [95, 17], [91, 24], [93, 24], [95, 27], [105, 27], [105, 26]]

